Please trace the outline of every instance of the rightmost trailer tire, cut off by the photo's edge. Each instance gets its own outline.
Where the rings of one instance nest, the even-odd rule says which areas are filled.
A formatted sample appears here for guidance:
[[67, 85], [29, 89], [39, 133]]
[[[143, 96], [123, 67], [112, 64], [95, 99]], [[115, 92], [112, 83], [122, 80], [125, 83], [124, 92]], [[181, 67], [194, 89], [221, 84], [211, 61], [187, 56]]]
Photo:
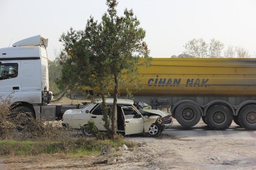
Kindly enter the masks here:
[[239, 114], [239, 122], [246, 130], [256, 130], [256, 105], [244, 107]]

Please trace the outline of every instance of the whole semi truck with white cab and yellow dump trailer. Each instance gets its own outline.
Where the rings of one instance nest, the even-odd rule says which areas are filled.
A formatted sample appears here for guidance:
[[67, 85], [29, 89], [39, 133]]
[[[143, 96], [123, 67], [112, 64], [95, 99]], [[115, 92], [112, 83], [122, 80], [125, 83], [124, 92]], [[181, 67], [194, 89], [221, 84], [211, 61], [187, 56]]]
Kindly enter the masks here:
[[[67, 109], [84, 105], [47, 105], [51, 98], [47, 43], [48, 39], [37, 35], [0, 49], [0, 95], [14, 96], [13, 103], [34, 117], [41, 112], [43, 117], [55, 119]], [[233, 120], [256, 130], [256, 58], [153, 58], [151, 64], [139, 68], [138, 83], [144, 87], [133, 94], [134, 101], [152, 109], [170, 109], [185, 127], [202, 119], [210, 128], [221, 130]], [[122, 87], [126, 86], [134, 90], [129, 82]], [[88, 90], [99, 94], [99, 89]], [[125, 96], [126, 90], [121, 88], [120, 98]]]

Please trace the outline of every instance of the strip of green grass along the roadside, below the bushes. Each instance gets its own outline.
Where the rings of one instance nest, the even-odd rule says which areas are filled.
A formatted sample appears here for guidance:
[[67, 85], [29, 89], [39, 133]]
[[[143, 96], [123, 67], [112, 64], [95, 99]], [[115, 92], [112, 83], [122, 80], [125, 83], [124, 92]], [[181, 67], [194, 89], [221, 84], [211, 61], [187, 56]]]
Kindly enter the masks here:
[[0, 156], [34, 156], [39, 154], [66, 153], [71, 156], [99, 154], [102, 147], [109, 144], [117, 149], [126, 144], [128, 148], [136, 146], [131, 141], [78, 139], [70, 141], [0, 141]]

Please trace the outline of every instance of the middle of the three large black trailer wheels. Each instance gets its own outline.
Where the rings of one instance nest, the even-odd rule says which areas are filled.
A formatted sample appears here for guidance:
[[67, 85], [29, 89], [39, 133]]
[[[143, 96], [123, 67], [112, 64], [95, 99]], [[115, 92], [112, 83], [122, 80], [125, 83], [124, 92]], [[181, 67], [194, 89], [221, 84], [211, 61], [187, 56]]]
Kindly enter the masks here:
[[232, 113], [228, 107], [217, 104], [210, 107], [206, 112], [208, 126], [214, 130], [228, 128], [233, 120]]

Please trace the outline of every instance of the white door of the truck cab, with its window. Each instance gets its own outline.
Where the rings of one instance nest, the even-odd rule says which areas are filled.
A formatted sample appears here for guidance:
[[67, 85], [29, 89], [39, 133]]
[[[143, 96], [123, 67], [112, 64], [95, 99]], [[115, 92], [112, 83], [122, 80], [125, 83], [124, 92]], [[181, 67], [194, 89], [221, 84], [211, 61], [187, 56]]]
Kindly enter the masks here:
[[2, 61], [0, 63], [0, 95], [2, 99], [12, 97], [12, 103], [20, 101], [21, 62]]

